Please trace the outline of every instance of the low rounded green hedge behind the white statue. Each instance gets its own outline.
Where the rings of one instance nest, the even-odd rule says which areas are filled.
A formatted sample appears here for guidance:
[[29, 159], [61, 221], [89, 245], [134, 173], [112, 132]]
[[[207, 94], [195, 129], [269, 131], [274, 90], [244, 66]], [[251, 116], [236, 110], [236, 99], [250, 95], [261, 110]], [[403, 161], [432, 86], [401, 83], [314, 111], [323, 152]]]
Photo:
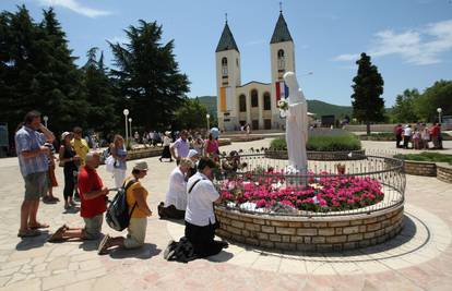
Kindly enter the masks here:
[[[287, 150], [286, 140], [273, 140], [270, 148], [273, 150]], [[310, 136], [306, 149], [312, 151], [358, 150], [361, 149], [361, 142], [356, 135], [349, 133], [336, 136]]]

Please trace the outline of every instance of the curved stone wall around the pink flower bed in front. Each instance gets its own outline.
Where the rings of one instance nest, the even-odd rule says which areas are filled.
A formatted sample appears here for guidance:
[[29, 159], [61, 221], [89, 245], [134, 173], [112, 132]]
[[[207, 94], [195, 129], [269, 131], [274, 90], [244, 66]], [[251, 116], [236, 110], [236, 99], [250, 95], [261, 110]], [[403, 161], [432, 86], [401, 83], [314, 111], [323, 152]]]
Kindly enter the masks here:
[[403, 205], [370, 215], [285, 217], [216, 207], [222, 238], [279, 251], [343, 251], [379, 244], [403, 228]]

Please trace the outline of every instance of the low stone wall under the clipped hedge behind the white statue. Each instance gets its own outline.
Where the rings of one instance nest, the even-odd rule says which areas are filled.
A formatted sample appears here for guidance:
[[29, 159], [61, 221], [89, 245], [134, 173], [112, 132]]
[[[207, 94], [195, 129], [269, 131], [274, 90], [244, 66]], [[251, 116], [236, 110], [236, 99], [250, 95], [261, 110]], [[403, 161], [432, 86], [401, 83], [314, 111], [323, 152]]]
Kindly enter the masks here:
[[[352, 153], [352, 157], [349, 154]], [[310, 151], [307, 153], [308, 160], [358, 160], [366, 158], [364, 149], [352, 151]], [[288, 159], [286, 150], [265, 150], [265, 158]]]

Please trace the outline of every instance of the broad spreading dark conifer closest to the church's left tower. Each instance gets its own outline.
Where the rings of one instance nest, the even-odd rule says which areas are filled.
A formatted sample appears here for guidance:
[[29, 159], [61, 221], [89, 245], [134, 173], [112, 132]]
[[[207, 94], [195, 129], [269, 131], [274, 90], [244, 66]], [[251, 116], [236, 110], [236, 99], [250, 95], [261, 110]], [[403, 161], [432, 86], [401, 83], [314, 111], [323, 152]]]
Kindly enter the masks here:
[[179, 73], [173, 53], [174, 40], [162, 44], [162, 26], [139, 21], [124, 31], [129, 44], [111, 44], [116, 70], [111, 70], [134, 123], [146, 128], [166, 128], [175, 120], [175, 110], [189, 90], [186, 74]]

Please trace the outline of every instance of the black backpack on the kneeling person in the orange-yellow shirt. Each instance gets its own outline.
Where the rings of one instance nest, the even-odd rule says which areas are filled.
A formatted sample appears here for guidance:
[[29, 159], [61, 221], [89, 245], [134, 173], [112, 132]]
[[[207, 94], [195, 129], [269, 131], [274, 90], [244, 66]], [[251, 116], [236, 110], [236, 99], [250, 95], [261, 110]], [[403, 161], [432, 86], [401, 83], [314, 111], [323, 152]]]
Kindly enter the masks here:
[[124, 185], [118, 190], [115, 198], [108, 205], [105, 218], [108, 226], [114, 230], [122, 231], [129, 227], [130, 217], [136, 207], [136, 202], [133, 205], [132, 210], [129, 213], [129, 205], [127, 204], [127, 190], [134, 183], [136, 183], [136, 180], [129, 181], [127, 185], [124, 183]]

